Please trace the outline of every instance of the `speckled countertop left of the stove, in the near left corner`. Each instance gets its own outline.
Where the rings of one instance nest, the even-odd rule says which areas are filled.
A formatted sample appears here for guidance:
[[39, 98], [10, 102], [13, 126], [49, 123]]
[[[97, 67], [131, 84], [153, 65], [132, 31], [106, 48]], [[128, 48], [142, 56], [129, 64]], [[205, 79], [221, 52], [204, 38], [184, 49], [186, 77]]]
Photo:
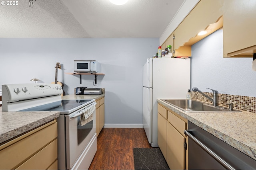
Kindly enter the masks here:
[[60, 116], [58, 111], [2, 111], [0, 107], [0, 143], [30, 131]]

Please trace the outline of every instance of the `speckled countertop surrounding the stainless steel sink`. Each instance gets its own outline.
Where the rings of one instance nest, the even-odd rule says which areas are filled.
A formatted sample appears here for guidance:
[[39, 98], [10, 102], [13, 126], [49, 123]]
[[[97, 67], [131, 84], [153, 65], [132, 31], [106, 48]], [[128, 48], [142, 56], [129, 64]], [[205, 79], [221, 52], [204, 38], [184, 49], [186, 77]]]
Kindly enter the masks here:
[[157, 102], [256, 160], [255, 113], [247, 111], [189, 113], [162, 100]]

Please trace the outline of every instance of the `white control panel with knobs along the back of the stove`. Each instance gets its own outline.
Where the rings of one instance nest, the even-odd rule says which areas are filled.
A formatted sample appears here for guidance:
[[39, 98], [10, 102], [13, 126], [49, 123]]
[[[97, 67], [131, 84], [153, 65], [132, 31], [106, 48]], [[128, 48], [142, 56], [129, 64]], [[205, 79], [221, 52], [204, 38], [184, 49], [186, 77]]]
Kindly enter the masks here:
[[11, 103], [62, 94], [59, 84], [4, 84], [2, 85], [2, 101]]

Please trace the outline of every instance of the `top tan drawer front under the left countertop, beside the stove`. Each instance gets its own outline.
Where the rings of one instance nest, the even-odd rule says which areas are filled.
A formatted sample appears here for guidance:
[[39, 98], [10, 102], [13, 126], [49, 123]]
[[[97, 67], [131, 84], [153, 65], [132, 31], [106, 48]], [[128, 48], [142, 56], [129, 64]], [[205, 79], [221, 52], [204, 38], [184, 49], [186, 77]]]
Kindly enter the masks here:
[[[2, 148], [4, 149], [0, 150], [0, 168], [16, 168], [16, 166], [30, 158], [40, 149], [45, 147], [48, 143], [56, 139], [57, 135], [58, 132], [56, 122], [45, 127], [40, 131], [37, 131], [36, 133], [32, 133], [31, 135], [22, 140], [14, 139], [13, 141], [17, 140], [15, 143], [8, 147], [2, 146]], [[10, 143], [11, 142], [12, 141], [10, 141]], [[9, 144], [6, 143], [4, 145]]]

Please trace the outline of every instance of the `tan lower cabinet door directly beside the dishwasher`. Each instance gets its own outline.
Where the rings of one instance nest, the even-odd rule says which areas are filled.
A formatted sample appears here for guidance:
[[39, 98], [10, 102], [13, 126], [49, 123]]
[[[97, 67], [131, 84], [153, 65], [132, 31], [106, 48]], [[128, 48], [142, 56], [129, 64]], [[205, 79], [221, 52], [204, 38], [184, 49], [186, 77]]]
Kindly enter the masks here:
[[167, 164], [170, 169], [185, 168], [185, 137], [167, 123]]

